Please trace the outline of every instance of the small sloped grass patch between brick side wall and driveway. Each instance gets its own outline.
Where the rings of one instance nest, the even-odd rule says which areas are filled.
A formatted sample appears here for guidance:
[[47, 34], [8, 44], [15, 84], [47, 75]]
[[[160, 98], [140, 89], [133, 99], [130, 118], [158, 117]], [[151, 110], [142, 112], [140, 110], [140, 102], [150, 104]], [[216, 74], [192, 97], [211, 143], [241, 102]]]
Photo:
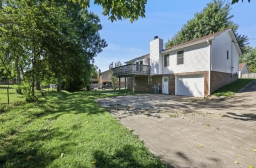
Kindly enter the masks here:
[[253, 80], [255, 80], [255, 78], [240, 78], [240, 79], [232, 82], [231, 84], [227, 84], [227, 85], [223, 86], [222, 88], [216, 90], [212, 95], [232, 97], [242, 87], [246, 86]]

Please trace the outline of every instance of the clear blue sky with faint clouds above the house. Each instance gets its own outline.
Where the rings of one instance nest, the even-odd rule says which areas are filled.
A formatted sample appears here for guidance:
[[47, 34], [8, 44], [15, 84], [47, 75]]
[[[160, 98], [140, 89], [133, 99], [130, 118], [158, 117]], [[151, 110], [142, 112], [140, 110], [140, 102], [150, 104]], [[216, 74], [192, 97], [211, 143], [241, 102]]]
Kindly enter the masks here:
[[[94, 1], [94, 0], [91, 0]], [[226, 2], [231, 4], [232, 0]], [[102, 7], [90, 4], [89, 10], [100, 17], [103, 26], [101, 38], [108, 46], [94, 58], [94, 64], [101, 72], [108, 70], [111, 62], [128, 60], [144, 54], [149, 54], [149, 43], [158, 36], [164, 44], [171, 39], [186, 22], [194, 18], [196, 12], [201, 12], [211, 0], [148, 0], [146, 18], [139, 18], [133, 23], [129, 20], [117, 20], [113, 23], [108, 16], [102, 15]], [[234, 15], [232, 21], [239, 25], [238, 34], [244, 34], [250, 39], [250, 45], [256, 46], [256, 1], [247, 0], [233, 4], [230, 11]]]

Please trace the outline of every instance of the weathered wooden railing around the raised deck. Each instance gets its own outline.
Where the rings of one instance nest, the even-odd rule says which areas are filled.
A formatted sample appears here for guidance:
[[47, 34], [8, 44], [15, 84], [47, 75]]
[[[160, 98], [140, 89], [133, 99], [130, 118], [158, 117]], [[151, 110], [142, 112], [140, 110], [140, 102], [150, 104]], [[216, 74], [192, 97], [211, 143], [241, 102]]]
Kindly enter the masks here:
[[128, 64], [113, 68], [114, 76], [150, 75], [150, 66], [141, 64]]

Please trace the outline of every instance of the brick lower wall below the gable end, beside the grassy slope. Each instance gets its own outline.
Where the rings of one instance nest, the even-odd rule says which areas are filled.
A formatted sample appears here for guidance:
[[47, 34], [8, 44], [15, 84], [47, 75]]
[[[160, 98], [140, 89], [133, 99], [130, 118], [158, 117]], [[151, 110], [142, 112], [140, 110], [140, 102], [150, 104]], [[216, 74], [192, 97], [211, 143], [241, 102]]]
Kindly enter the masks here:
[[230, 84], [238, 79], [238, 74], [211, 71], [211, 93], [218, 88]]

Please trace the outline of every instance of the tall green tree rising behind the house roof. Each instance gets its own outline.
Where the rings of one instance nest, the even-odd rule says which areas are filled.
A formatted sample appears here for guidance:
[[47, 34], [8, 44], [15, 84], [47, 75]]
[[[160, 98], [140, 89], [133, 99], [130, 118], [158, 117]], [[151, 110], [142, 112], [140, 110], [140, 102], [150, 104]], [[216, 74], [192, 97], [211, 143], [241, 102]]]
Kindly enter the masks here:
[[[236, 32], [238, 24], [232, 22], [233, 15], [230, 15], [230, 4], [224, 3], [224, 0], [213, 0], [201, 11], [194, 14], [194, 18], [184, 24], [181, 30], [168, 40], [165, 47], [181, 44], [202, 36], [207, 36], [214, 32], [233, 28]], [[246, 53], [246, 46], [249, 44], [248, 37], [238, 35], [236, 37], [240, 44], [242, 52]]]

